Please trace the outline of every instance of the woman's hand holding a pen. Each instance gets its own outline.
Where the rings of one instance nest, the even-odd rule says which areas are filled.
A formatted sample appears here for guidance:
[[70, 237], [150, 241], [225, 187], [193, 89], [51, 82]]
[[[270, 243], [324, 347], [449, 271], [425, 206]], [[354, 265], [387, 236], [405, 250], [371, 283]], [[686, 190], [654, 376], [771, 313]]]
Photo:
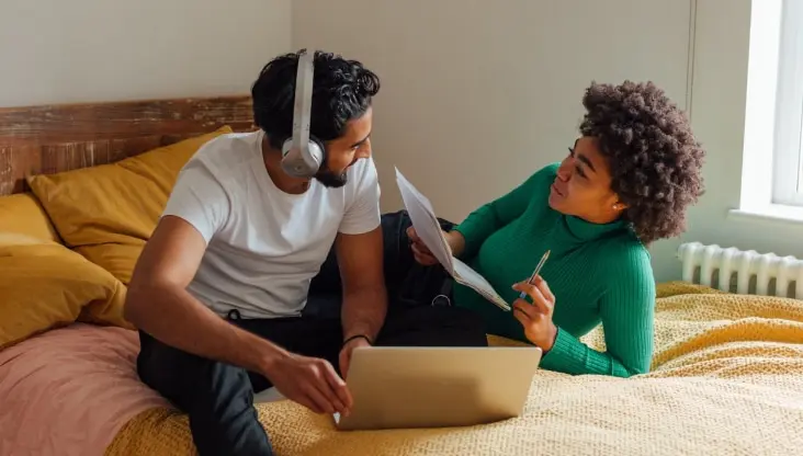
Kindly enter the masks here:
[[548, 352], [557, 337], [557, 327], [552, 322], [555, 295], [541, 276], [535, 276], [532, 284], [520, 282], [513, 285], [513, 289], [524, 292], [532, 299], [532, 304], [524, 299], [513, 303], [513, 316], [524, 327], [524, 335], [544, 353]]

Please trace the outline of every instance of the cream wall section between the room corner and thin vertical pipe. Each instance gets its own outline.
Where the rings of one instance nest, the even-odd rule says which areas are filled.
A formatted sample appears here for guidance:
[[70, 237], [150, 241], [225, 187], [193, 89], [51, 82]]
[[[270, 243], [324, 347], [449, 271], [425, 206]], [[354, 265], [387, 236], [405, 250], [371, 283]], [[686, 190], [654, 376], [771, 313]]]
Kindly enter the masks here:
[[[292, 45], [381, 76], [384, 208], [400, 207], [397, 166], [459, 221], [563, 158], [591, 80], [649, 79], [686, 107], [690, 13], [688, 0], [295, 0]], [[659, 280], [677, 269], [667, 249]]]

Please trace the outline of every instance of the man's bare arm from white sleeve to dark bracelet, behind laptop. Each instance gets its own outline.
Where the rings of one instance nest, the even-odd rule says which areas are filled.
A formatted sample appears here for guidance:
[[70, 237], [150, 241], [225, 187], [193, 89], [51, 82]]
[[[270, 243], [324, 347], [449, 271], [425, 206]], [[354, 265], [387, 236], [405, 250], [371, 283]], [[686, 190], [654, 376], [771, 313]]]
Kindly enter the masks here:
[[374, 342], [387, 312], [382, 227], [362, 235], [340, 233], [336, 249], [343, 282], [343, 340], [362, 334]]

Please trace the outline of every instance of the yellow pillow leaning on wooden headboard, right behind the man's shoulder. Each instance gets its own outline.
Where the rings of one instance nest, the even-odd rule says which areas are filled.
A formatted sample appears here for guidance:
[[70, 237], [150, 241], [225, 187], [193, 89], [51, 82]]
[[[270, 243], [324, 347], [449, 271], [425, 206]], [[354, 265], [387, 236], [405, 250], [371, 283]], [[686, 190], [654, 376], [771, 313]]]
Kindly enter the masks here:
[[128, 283], [181, 168], [229, 126], [111, 164], [27, 178], [65, 244]]

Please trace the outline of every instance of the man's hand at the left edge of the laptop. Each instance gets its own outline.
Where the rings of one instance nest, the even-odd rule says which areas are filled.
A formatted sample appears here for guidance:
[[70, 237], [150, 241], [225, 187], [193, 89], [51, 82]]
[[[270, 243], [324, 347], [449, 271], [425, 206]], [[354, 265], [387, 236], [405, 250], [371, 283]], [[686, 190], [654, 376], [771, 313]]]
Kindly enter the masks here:
[[285, 398], [301, 403], [315, 413], [348, 417], [353, 406], [346, 383], [326, 360], [290, 353], [263, 373]]

